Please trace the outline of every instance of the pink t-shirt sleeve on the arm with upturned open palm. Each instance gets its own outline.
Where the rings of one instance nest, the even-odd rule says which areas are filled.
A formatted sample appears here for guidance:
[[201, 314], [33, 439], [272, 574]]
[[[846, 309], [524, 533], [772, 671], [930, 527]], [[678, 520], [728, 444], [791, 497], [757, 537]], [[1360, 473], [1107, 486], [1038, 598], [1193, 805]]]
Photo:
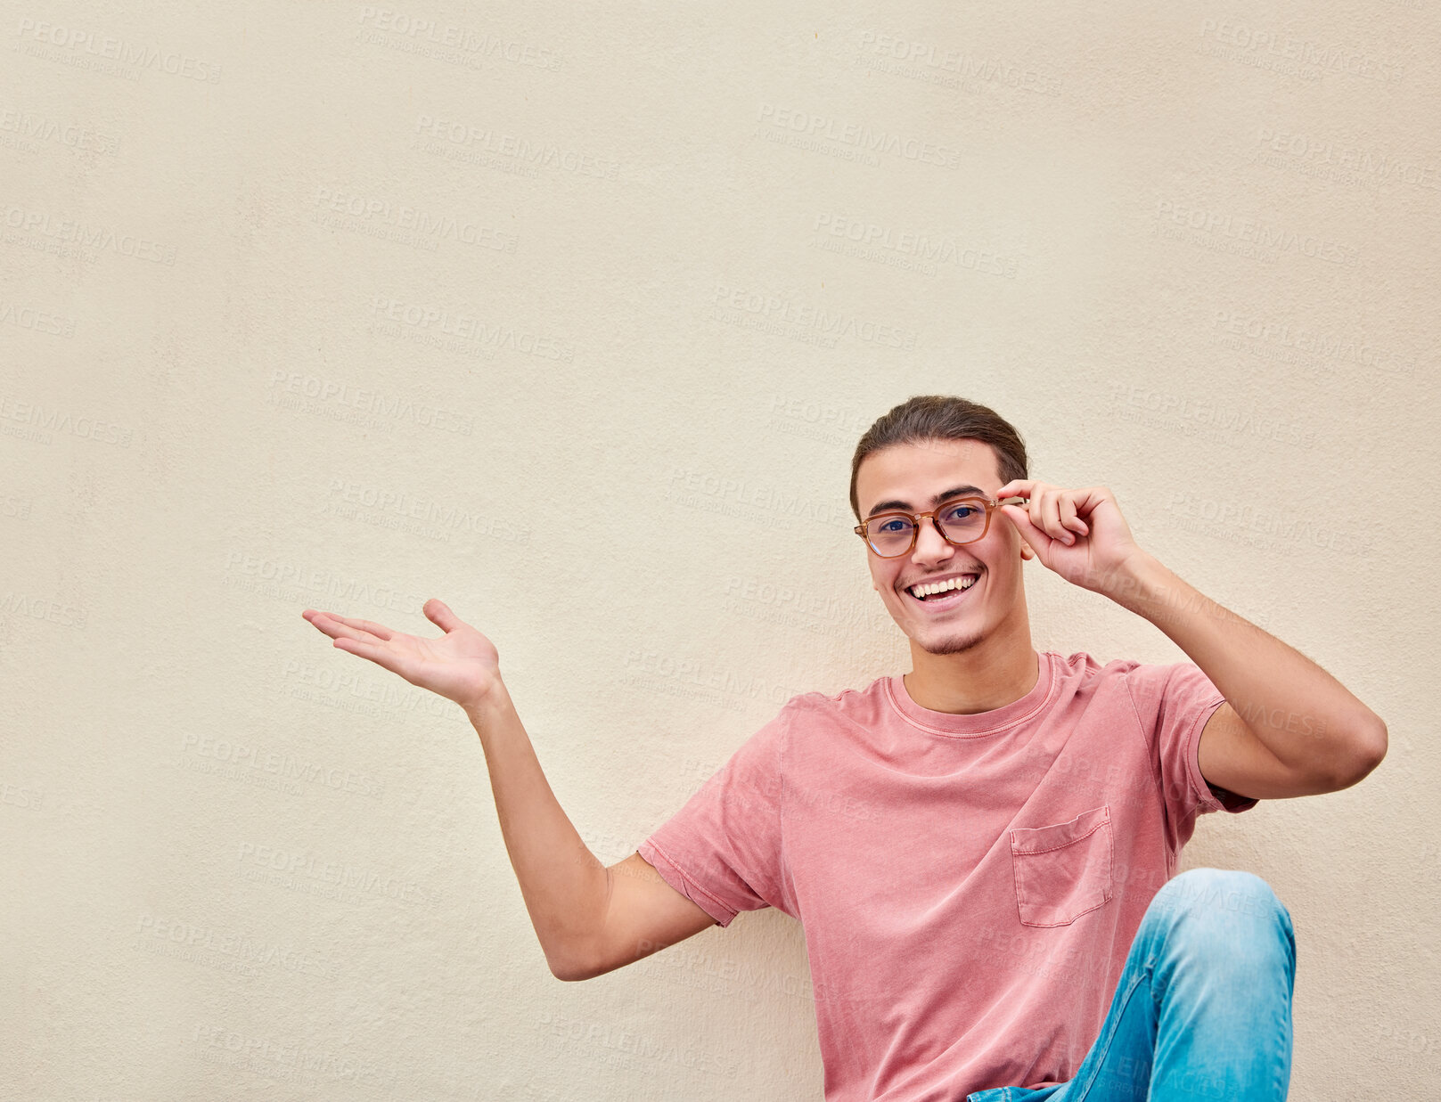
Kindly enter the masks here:
[[788, 707], [746, 739], [638, 847], [661, 879], [719, 925], [781, 899], [781, 769]]

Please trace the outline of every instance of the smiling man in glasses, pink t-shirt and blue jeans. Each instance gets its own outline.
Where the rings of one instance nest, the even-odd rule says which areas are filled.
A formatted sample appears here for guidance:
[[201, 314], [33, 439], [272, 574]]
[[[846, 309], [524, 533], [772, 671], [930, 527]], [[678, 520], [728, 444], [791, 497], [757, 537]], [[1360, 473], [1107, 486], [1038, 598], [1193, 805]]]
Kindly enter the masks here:
[[[1138, 547], [1108, 490], [1030, 480], [986, 406], [892, 409], [850, 497], [911, 673], [793, 697], [610, 869], [474, 628], [434, 599], [441, 640], [304, 615], [465, 709], [561, 980], [774, 906], [806, 932], [827, 1102], [1284, 1099], [1290, 913], [1251, 873], [1177, 876], [1176, 859], [1197, 814], [1360, 781], [1382, 720]], [[1035, 651], [1032, 559], [1192, 661]]]

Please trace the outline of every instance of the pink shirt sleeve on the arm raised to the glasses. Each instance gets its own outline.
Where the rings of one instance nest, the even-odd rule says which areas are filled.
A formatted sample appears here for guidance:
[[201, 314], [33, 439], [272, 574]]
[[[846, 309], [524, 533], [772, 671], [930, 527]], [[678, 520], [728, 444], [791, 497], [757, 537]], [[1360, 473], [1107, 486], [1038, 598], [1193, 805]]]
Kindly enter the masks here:
[[1196, 815], [1210, 811], [1248, 811], [1252, 797], [1239, 797], [1213, 788], [1200, 774], [1200, 732], [1226, 697], [1195, 663], [1136, 666], [1125, 676], [1131, 703], [1150, 739], [1151, 761], [1157, 763], [1166, 811], [1172, 823], [1183, 827]]

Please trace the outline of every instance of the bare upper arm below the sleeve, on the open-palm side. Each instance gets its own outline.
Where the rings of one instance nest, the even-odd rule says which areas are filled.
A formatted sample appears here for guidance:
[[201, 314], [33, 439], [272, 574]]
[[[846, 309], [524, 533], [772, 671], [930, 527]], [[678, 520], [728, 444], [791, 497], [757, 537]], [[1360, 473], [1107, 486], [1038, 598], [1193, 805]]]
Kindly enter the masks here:
[[605, 918], [585, 967], [566, 980], [612, 972], [715, 925], [713, 918], [667, 884], [638, 853], [605, 872], [610, 874]]

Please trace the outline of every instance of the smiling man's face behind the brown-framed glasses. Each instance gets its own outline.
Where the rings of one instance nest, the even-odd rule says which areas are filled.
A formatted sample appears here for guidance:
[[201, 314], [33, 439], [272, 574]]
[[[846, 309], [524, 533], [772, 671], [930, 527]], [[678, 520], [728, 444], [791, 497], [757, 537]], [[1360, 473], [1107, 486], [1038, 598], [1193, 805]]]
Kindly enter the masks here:
[[[873, 511], [928, 513], [954, 491], [993, 498], [1001, 487], [996, 452], [974, 439], [895, 444], [872, 452], [856, 474], [856, 500], [865, 520]], [[994, 632], [1022, 599], [1022, 546], [1016, 527], [999, 510], [986, 534], [955, 547], [941, 539], [929, 517], [921, 520], [909, 555], [882, 559], [862, 545], [870, 581], [891, 618], [931, 654], [970, 650]], [[921, 601], [909, 586], [976, 575], [964, 592]]]

